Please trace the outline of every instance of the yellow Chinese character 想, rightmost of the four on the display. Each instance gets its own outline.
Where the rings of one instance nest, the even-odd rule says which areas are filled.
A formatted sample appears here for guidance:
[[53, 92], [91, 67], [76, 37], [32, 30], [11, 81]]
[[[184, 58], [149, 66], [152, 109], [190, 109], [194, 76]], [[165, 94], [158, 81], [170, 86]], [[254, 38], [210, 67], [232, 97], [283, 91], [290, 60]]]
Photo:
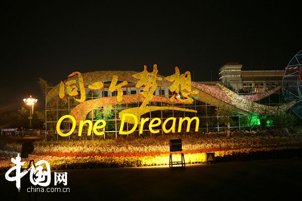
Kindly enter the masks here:
[[[192, 91], [191, 90], [191, 73], [189, 71], [186, 71], [184, 74], [180, 74], [179, 68], [175, 67], [175, 73], [173, 75], [170, 75], [168, 77], [165, 77], [168, 81], [173, 82], [173, 84], [170, 86], [169, 90], [171, 92], [179, 93], [179, 89], [181, 89], [181, 94], [184, 97], [184, 99], [180, 98], [178, 95], [176, 98], [183, 103], [192, 103], [193, 98], [189, 97], [190, 94], [198, 94], [197, 90]], [[180, 86], [179, 86], [180, 85]], [[170, 101], [174, 102], [175, 100], [174, 94]]]

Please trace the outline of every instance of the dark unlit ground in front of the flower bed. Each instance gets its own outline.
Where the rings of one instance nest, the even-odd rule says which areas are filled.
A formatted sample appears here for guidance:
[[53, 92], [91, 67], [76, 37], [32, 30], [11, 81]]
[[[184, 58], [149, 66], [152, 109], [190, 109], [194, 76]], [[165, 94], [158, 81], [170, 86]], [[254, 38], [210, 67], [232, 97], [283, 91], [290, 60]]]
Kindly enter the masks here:
[[302, 200], [302, 159], [66, 172], [66, 186], [54, 186], [52, 172], [48, 187], [68, 187], [69, 193], [27, 192], [34, 187], [28, 176], [18, 193], [16, 182], [0, 173], [1, 200]]

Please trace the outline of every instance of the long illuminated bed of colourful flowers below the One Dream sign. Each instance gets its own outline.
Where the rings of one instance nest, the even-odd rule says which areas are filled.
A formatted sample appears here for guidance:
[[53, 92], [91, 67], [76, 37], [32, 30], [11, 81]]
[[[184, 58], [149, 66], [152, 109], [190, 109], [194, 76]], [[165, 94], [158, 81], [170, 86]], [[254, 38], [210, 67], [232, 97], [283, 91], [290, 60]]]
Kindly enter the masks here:
[[[166, 165], [169, 164], [169, 139], [175, 138], [182, 138], [187, 164], [206, 162], [207, 152], [215, 152], [218, 160], [242, 160], [251, 155], [261, 159], [261, 154], [256, 153], [265, 155], [274, 151], [302, 150], [302, 135], [273, 136], [269, 132], [249, 132], [231, 138], [218, 133], [215, 137], [200, 134], [116, 140], [38, 141], [34, 143], [35, 151], [30, 158], [35, 161], [47, 160], [51, 169]], [[0, 171], [6, 171], [14, 165], [11, 157], [16, 157], [21, 147], [18, 143], [0, 144]], [[175, 160], [180, 160], [180, 156]]]

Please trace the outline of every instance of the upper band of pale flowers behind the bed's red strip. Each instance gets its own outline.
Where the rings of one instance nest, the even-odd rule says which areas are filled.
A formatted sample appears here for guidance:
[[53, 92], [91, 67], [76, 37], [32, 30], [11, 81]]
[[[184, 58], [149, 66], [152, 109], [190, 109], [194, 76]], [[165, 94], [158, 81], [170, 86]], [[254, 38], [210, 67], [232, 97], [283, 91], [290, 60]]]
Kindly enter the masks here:
[[[264, 135], [264, 134], [263, 134]], [[277, 133], [267, 132], [266, 136], [250, 137], [220, 137], [220, 138], [198, 138], [196, 136], [161, 136], [138, 138], [120, 138], [115, 144], [98, 144], [97, 140], [91, 141], [56, 141], [56, 142], [37, 142], [33, 154], [57, 152], [57, 153], [152, 153], [169, 152], [169, 139], [182, 138], [184, 151], [198, 151], [211, 148], [234, 148], [234, 147], [253, 147], [270, 146], [282, 144], [301, 143], [302, 136], [278, 136]], [[112, 141], [109, 141], [112, 143]], [[122, 143], [123, 142], [123, 143]], [[1, 148], [7, 151], [21, 152], [21, 145], [17, 143], [7, 143]]]

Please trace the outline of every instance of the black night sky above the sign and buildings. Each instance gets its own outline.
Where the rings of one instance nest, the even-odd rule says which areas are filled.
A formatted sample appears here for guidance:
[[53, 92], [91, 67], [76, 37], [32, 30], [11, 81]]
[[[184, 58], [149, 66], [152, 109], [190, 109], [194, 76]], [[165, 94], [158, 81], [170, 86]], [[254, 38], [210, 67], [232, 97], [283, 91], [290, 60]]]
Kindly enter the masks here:
[[38, 77], [57, 84], [73, 71], [142, 71], [143, 65], [151, 71], [158, 64], [159, 74], [178, 66], [194, 70], [194, 81], [209, 81], [210, 70], [218, 80], [218, 68], [229, 61], [243, 70], [251, 62], [253, 70], [283, 69], [302, 49], [301, 1], [101, 2], [0, 3], [0, 110], [24, 107], [29, 95], [44, 107]]

